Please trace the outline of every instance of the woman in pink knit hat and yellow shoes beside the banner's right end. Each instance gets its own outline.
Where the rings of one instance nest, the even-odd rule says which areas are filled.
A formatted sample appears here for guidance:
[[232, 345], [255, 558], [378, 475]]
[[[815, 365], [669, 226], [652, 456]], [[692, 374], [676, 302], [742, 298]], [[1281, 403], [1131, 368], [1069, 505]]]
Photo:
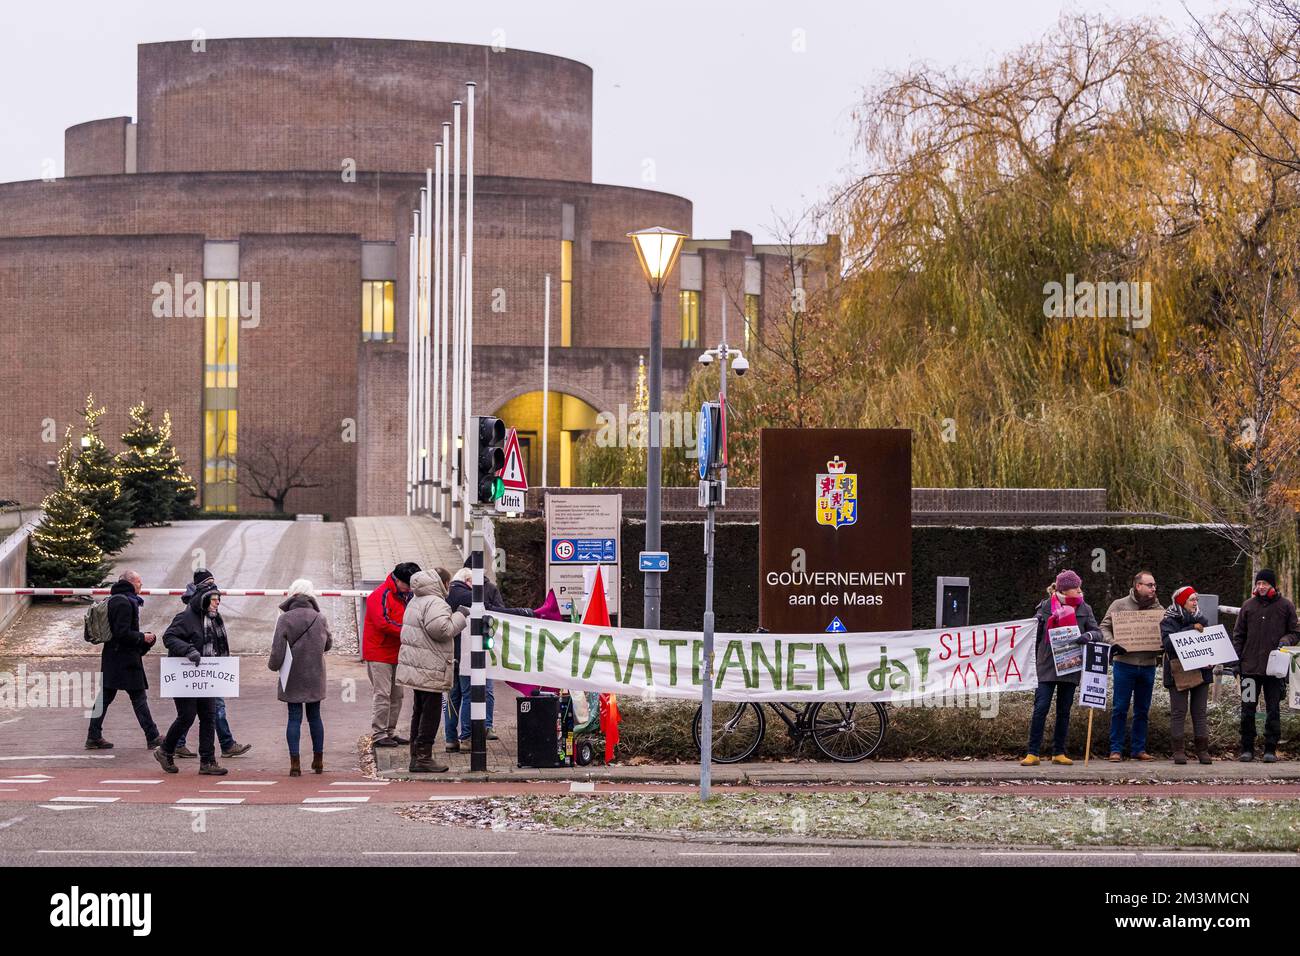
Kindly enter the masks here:
[[1074, 688], [1079, 684], [1079, 671], [1058, 676], [1052, 657], [1052, 641], [1048, 632], [1054, 627], [1079, 628], [1079, 644], [1092, 644], [1101, 640], [1101, 626], [1083, 600], [1083, 581], [1074, 571], [1062, 571], [1054, 584], [1048, 588], [1048, 597], [1035, 610], [1037, 619], [1036, 658], [1039, 687], [1034, 692], [1034, 718], [1030, 721], [1028, 753], [1020, 766], [1037, 766], [1039, 750], [1043, 747], [1043, 731], [1046, 726], [1048, 710], [1052, 708], [1052, 695], [1056, 695], [1056, 734], [1052, 739], [1052, 762], [1070, 766], [1074, 763], [1066, 750], [1066, 736], [1070, 732], [1070, 708], [1074, 704]]

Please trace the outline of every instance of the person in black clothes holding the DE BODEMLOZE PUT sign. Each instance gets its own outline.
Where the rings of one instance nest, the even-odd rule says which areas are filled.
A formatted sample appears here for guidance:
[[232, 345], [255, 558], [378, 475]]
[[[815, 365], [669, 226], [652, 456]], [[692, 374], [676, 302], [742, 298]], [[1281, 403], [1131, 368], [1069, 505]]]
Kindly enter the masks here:
[[[162, 633], [168, 657], [183, 657], [198, 665], [204, 657], [224, 657], [229, 652], [225, 623], [221, 620], [221, 593], [217, 588], [199, 585], [190, 604], [177, 614]], [[216, 705], [213, 697], [177, 697], [176, 722], [162, 745], [153, 752], [162, 769], [177, 773], [176, 748], [199, 718], [199, 773], [222, 777], [226, 769], [216, 756]]]

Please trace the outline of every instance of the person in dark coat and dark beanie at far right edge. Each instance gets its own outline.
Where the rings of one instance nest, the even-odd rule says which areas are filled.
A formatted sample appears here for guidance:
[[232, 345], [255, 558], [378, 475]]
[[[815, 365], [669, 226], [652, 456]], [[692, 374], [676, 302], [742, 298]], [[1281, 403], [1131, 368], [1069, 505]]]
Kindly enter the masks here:
[[1296, 607], [1278, 593], [1278, 578], [1262, 568], [1254, 575], [1251, 597], [1242, 605], [1232, 631], [1232, 646], [1239, 658], [1242, 679], [1242, 761], [1254, 760], [1254, 711], [1260, 695], [1268, 708], [1264, 722], [1264, 762], [1278, 758], [1282, 739], [1282, 693], [1286, 678], [1269, 676], [1269, 654], [1300, 643]]

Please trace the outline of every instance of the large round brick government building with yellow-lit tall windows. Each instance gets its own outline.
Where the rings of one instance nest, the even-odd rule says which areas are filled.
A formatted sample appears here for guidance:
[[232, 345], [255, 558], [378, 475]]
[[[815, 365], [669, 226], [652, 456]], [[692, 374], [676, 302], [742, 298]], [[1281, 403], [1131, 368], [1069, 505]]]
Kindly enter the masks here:
[[[649, 345], [625, 234], [692, 234], [689, 200], [592, 182], [590, 68], [406, 40], [195, 46], [139, 47], [136, 118], [70, 127], [64, 178], [0, 183], [0, 497], [39, 498], [51, 434], [94, 392], [110, 445], [142, 397], [170, 411], [209, 510], [266, 510], [237, 481], [240, 457], [292, 429], [321, 440], [328, 485], [294, 492], [291, 510], [402, 511], [407, 234], [467, 81], [474, 412], [504, 410], [537, 481], [551, 273], [549, 472], [571, 483], [572, 440], [633, 401]], [[836, 258], [833, 245], [755, 246], [740, 232], [688, 242], [664, 293], [670, 398], [716, 342], [724, 300], [738, 343]]]

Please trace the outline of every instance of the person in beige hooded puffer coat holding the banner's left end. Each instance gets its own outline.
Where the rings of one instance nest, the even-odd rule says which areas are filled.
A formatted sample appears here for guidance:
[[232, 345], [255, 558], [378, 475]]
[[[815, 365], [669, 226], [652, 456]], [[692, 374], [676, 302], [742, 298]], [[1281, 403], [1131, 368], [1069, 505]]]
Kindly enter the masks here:
[[437, 774], [447, 769], [433, 756], [442, 715], [442, 695], [455, 679], [455, 639], [465, 627], [463, 611], [447, 605], [443, 568], [421, 571], [411, 578], [415, 597], [402, 617], [402, 650], [398, 652], [396, 682], [415, 691], [411, 710], [411, 773]]

